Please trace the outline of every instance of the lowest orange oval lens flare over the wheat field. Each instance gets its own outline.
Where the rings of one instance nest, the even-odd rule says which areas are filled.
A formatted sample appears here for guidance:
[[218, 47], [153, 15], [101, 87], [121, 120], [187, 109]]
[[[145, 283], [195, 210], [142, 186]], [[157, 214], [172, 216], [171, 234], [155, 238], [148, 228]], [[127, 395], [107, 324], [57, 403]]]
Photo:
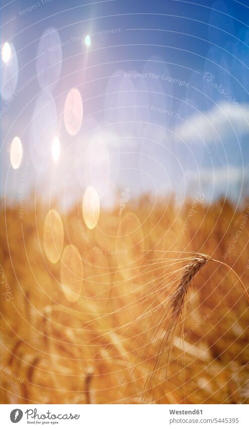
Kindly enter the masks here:
[[81, 255], [73, 245], [65, 247], [61, 256], [60, 283], [68, 301], [76, 302], [83, 284], [83, 265]]

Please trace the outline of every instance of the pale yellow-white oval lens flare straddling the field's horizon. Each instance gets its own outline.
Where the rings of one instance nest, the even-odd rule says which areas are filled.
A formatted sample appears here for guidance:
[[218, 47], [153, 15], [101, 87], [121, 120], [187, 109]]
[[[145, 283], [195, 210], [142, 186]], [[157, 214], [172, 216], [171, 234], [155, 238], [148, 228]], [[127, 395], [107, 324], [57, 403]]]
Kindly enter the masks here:
[[83, 198], [83, 217], [89, 229], [93, 229], [97, 225], [99, 210], [98, 193], [93, 186], [89, 186]]

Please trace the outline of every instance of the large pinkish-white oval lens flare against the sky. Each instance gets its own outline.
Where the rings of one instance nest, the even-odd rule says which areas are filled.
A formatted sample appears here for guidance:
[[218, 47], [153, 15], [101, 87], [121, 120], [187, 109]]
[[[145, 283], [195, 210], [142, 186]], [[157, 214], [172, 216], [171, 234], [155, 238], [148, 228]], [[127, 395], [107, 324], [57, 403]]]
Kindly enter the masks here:
[[69, 91], [64, 106], [64, 122], [66, 130], [70, 135], [76, 135], [83, 119], [83, 105], [81, 94], [78, 89]]

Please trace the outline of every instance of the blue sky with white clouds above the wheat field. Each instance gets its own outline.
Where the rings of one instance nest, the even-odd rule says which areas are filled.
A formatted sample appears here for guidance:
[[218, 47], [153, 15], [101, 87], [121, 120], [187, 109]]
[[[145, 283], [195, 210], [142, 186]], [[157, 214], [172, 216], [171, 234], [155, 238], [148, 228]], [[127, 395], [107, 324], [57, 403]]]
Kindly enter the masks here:
[[[1, 43], [16, 51], [9, 89], [1, 63], [2, 196], [20, 198], [23, 179], [26, 197], [36, 189], [66, 203], [89, 184], [103, 204], [128, 186], [134, 197], [174, 193], [182, 201], [201, 192], [207, 201], [223, 195], [240, 202], [249, 178], [248, 6], [80, 3], [2, 6]], [[83, 101], [74, 136], [64, 123], [71, 88]], [[56, 164], [54, 135], [61, 145]], [[16, 170], [15, 136], [23, 145]]]

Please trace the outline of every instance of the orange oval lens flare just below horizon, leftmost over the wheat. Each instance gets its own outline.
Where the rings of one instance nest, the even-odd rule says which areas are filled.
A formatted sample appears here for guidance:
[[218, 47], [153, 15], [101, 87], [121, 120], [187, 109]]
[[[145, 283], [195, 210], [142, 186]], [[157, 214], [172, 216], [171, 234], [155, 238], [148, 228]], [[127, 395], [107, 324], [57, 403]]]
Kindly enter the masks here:
[[59, 260], [63, 251], [64, 229], [59, 214], [50, 210], [43, 227], [43, 244], [47, 258], [53, 264]]

